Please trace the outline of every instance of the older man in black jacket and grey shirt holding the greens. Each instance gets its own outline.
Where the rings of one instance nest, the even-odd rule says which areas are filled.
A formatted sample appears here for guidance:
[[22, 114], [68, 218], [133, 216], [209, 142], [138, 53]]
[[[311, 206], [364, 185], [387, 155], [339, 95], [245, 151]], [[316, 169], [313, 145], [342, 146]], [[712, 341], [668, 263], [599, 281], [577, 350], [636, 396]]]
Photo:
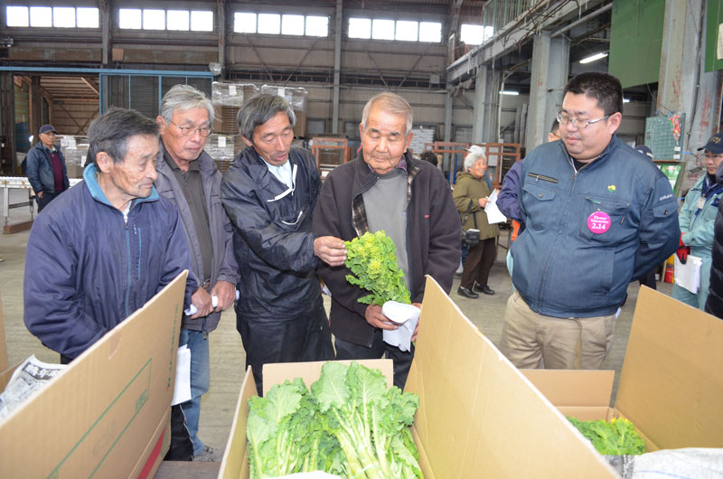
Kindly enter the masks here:
[[[425, 275], [449, 293], [459, 266], [459, 215], [445, 177], [432, 164], [409, 155], [411, 107], [399, 95], [381, 93], [364, 107], [359, 132], [360, 155], [336, 167], [324, 181], [314, 213], [315, 235], [352, 240], [367, 231], [385, 230], [394, 241], [413, 304], [422, 302]], [[336, 357], [371, 359], [386, 353], [394, 361], [394, 384], [403, 389], [414, 347], [402, 352], [383, 342], [383, 330], [397, 326], [380, 306], [358, 302], [368, 292], [346, 281], [350, 273], [333, 265], [319, 268], [332, 292]]]

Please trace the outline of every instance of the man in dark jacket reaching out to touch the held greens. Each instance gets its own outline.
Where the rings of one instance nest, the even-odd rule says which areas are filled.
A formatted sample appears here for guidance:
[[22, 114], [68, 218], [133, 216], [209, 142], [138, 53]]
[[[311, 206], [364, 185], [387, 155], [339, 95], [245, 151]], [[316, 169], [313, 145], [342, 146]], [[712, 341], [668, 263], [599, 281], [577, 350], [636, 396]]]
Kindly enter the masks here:
[[311, 231], [321, 179], [314, 156], [291, 146], [296, 116], [286, 99], [249, 99], [237, 122], [248, 148], [223, 175], [221, 201], [241, 269], [236, 328], [261, 394], [265, 363], [333, 359], [315, 268], [319, 259], [342, 265], [346, 249]]

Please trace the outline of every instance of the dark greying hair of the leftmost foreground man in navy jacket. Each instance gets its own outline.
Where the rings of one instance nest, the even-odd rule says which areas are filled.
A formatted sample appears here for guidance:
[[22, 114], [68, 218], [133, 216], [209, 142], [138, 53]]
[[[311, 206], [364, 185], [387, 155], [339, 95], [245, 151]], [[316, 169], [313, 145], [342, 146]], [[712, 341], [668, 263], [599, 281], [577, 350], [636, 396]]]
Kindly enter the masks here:
[[110, 108], [93, 120], [88, 128], [86, 164], [95, 163], [100, 152], [106, 152], [113, 163], [123, 163], [128, 153], [128, 140], [136, 135], [153, 135], [158, 139], [158, 125], [135, 109]]

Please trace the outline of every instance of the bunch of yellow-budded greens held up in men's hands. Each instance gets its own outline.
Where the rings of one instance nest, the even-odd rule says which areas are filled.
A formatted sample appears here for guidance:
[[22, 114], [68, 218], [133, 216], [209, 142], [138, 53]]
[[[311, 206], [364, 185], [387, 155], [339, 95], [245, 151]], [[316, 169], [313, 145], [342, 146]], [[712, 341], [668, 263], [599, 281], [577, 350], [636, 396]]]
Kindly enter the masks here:
[[394, 241], [383, 231], [366, 232], [359, 238], [344, 241], [350, 284], [361, 286], [371, 295], [359, 298], [366, 305], [384, 305], [387, 301], [411, 304], [409, 290], [404, 284], [404, 272], [397, 266]]

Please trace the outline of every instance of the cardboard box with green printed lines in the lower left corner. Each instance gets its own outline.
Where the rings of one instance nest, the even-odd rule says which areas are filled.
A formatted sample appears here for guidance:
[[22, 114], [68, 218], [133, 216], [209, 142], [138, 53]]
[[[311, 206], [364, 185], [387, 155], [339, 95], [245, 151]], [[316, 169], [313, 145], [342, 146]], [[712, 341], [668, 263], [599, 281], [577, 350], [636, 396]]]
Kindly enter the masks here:
[[170, 445], [186, 276], [0, 424], [0, 477], [153, 477]]

